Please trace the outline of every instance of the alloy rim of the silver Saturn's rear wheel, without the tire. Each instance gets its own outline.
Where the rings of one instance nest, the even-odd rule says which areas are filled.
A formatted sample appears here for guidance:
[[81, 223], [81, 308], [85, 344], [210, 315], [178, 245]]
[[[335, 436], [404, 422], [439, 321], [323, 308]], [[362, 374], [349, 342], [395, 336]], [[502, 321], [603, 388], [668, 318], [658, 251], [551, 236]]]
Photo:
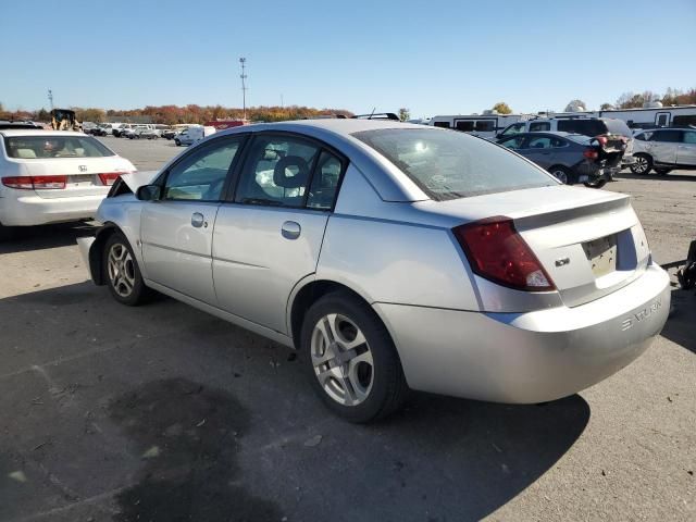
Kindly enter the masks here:
[[364, 401], [374, 382], [370, 345], [349, 318], [331, 313], [314, 325], [311, 337], [314, 374], [332, 399], [343, 406]]

